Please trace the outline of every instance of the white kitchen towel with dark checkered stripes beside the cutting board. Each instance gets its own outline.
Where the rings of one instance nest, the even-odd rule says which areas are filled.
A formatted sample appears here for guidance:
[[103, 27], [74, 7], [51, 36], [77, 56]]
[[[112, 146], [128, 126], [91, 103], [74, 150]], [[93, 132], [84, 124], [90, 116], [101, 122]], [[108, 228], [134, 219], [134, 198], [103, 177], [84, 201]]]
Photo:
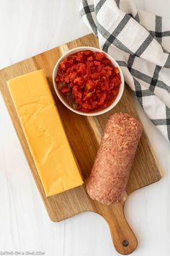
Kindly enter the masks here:
[[83, 0], [80, 13], [170, 142], [170, 20], [143, 12], [130, 0]]

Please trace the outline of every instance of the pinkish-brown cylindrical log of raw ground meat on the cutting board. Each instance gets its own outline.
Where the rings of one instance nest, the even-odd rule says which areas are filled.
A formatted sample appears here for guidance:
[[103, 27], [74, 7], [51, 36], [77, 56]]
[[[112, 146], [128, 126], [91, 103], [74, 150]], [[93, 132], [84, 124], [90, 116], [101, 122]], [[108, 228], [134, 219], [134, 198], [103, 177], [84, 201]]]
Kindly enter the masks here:
[[129, 114], [109, 116], [86, 186], [92, 199], [107, 205], [120, 202], [142, 131], [140, 122]]

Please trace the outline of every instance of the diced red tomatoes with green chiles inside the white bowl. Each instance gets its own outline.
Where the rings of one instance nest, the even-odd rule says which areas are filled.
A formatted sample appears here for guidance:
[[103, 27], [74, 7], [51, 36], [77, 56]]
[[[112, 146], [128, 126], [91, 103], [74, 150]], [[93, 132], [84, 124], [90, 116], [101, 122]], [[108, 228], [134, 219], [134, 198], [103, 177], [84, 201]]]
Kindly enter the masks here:
[[115, 101], [121, 84], [120, 70], [104, 53], [79, 51], [61, 61], [55, 82], [70, 106], [93, 112]]

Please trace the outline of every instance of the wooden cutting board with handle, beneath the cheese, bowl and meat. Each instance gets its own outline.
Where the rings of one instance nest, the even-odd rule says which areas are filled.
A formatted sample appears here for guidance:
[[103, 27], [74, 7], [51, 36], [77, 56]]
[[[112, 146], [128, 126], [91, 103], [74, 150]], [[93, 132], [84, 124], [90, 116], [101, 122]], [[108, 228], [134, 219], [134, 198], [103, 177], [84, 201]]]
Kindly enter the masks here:
[[30, 164], [37, 188], [39, 189], [42, 200], [48, 210], [50, 219], [52, 221], [62, 221], [84, 211], [99, 213], [109, 224], [112, 240], [117, 252], [120, 252], [122, 255], [128, 255], [137, 247], [137, 239], [124, 216], [125, 200], [135, 189], [145, 187], [153, 182], [158, 182], [158, 180], [161, 179], [161, 169], [156, 162], [151, 144], [148, 141], [145, 132], [143, 132], [135, 155], [135, 161], [130, 173], [126, 194], [123, 197], [122, 202], [110, 206], [95, 202], [86, 194], [86, 184], [84, 184], [84, 186], [77, 187], [76, 189], [63, 192], [60, 195], [45, 197], [45, 192], [37, 174], [35, 163], [32, 160], [32, 155], [24, 137], [22, 127], [19, 123], [14, 104], [12, 103], [12, 98], [9, 95], [9, 90], [6, 86], [6, 80], [13, 77], [17, 77], [21, 74], [26, 74], [27, 72], [32, 72], [37, 69], [43, 69], [45, 71], [53, 97], [55, 98], [56, 105], [58, 106], [58, 110], [61, 114], [61, 119], [63, 120], [68, 140], [70, 141], [73, 152], [79, 162], [79, 166], [81, 167], [86, 183], [86, 179], [90, 174], [94, 158], [97, 154], [97, 148], [99, 147], [100, 137], [107, 117], [110, 114], [119, 111], [127, 112], [133, 116], [137, 116], [137, 114], [135, 106], [133, 105], [133, 97], [127, 86], [125, 87], [125, 92], [120, 103], [118, 103], [112, 111], [109, 111], [109, 113], [103, 114], [102, 116], [80, 116], [78, 114], [74, 114], [69, 111], [68, 108], [63, 106], [55, 95], [55, 91], [53, 89], [53, 67], [63, 53], [68, 51], [68, 49], [78, 46], [99, 47], [99, 44], [94, 35], [86, 35], [83, 38], [73, 40], [63, 46], [59, 46], [50, 51], [46, 51], [43, 54], [26, 59], [10, 67], [6, 67], [0, 71], [0, 89], [17, 135], [22, 144], [22, 148], [27, 157], [27, 161]]

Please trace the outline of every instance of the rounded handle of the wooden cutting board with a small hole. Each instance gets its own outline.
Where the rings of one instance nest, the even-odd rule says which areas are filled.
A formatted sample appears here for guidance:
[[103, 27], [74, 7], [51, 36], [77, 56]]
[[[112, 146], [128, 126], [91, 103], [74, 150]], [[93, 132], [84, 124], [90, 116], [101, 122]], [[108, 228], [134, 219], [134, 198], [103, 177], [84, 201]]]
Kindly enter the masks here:
[[124, 202], [118, 202], [109, 206], [98, 205], [97, 208], [98, 213], [109, 224], [112, 241], [117, 252], [121, 255], [130, 255], [136, 249], [138, 240], [125, 219]]

